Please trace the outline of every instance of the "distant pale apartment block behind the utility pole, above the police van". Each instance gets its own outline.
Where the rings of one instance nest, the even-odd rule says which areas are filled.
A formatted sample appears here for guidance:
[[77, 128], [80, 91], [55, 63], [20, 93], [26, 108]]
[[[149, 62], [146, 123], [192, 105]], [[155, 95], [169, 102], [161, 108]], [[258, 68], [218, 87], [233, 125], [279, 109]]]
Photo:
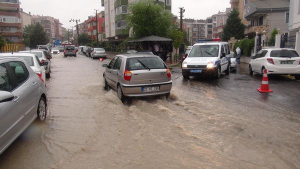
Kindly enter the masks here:
[[205, 20], [183, 19], [182, 27], [187, 31], [189, 45], [197, 43], [199, 39], [205, 39]]

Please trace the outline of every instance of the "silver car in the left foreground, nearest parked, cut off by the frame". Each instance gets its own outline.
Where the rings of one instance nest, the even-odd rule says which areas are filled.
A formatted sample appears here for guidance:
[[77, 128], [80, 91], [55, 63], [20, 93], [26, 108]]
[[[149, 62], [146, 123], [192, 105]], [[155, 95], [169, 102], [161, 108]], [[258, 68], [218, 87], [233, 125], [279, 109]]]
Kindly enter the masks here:
[[1, 55], [0, 154], [36, 117], [45, 121], [47, 115], [47, 90], [40, 76], [23, 59]]

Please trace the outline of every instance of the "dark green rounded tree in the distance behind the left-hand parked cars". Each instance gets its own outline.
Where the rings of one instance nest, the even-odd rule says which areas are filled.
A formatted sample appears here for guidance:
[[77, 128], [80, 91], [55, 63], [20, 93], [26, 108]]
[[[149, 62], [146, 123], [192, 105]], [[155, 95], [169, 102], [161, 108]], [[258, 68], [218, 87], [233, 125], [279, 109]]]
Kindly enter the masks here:
[[38, 44], [47, 44], [48, 36], [40, 23], [25, 26], [23, 31], [24, 43], [30, 48], [35, 48]]

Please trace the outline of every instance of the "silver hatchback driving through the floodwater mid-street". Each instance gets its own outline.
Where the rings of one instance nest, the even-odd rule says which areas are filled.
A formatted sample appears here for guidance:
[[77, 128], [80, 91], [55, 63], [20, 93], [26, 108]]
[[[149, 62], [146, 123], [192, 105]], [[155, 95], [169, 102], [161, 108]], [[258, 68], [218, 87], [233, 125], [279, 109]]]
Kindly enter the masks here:
[[128, 97], [150, 95], [169, 96], [171, 73], [159, 56], [151, 54], [116, 55], [105, 68], [105, 89], [117, 91], [123, 102]]

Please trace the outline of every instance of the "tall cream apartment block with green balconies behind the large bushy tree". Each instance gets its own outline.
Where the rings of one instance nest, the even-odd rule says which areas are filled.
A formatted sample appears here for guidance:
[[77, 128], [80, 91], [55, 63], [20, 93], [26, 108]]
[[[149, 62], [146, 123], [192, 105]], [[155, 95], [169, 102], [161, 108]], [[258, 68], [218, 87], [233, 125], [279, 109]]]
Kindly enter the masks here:
[[[119, 41], [128, 37], [129, 30], [125, 20], [128, 14], [128, 4], [136, 0], [101, 0], [105, 15], [105, 37], [109, 40]], [[165, 10], [171, 12], [171, 0], [153, 0]]]

